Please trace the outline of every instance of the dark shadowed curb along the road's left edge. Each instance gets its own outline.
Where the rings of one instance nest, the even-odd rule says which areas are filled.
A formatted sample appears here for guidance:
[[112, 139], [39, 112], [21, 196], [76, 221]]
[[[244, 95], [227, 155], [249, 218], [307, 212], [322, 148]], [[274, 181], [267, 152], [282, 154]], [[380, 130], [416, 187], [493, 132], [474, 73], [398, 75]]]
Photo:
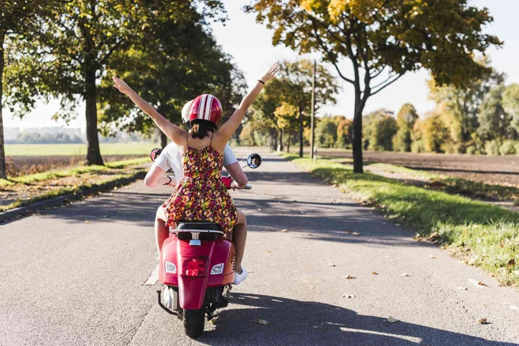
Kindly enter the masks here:
[[93, 194], [97, 194], [98, 192], [113, 190], [113, 188], [128, 185], [129, 183], [133, 183], [138, 179], [143, 179], [145, 172], [136, 172], [133, 176], [128, 178], [117, 179], [115, 181], [110, 181], [109, 183], [101, 183], [99, 185], [92, 185], [91, 188], [84, 188], [75, 193], [64, 194], [59, 197], [54, 197], [51, 199], [45, 199], [44, 201], [37, 201], [28, 206], [21, 206], [18, 208], [14, 208], [11, 210], [7, 210], [5, 212], [0, 212], [0, 224], [11, 219], [26, 217], [32, 215], [38, 210], [48, 209], [54, 206], [62, 206], [65, 203], [69, 203], [71, 201], [77, 201], [79, 199], [83, 199], [84, 197], [92, 196]]

